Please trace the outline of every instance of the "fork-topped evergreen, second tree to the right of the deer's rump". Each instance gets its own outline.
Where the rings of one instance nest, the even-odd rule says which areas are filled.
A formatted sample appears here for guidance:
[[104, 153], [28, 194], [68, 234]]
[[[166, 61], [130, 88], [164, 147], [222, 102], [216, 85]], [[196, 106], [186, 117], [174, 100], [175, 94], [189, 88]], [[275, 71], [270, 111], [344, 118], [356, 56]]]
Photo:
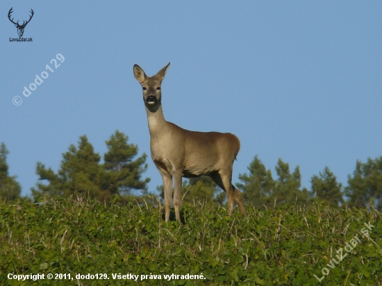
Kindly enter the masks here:
[[276, 165], [276, 173], [279, 178], [276, 180], [273, 198], [276, 203], [297, 203], [304, 205], [309, 198], [308, 190], [301, 187], [300, 168], [297, 166], [290, 174], [289, 164], [279, 159]]

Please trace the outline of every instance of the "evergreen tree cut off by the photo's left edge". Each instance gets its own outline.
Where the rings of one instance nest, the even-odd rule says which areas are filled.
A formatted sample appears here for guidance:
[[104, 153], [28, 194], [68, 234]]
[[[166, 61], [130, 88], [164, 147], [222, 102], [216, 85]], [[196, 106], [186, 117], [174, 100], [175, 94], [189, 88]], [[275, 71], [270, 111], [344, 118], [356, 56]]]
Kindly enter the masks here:
[[22, 187], [16, 181], [17, 176], [9, 176], [7, 155], [9, 151], [6, 149], [6, 144], [1, 142], [0, 145], [0, 198], [14, 200], [19, 198]]

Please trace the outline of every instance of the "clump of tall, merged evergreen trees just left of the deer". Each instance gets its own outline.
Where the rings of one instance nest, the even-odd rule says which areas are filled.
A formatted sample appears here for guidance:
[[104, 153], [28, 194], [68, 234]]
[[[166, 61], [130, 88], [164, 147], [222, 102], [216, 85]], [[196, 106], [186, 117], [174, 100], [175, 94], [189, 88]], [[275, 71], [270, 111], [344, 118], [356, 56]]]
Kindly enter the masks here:
[[[63, 153], [60, 169], [55, 174], [47, 169], [44, 164], [38, 162], [36, 173], [39, 180], [47, 180], [49, 183], [37, 183], [37, 188], [32, 188], [32, 194], [50, 194], [51, 196], [89, 195], [99, 201], [109, 200], [117, 191], [124, 194], [131, 188], [146, 188], [149, 179], [139, 180], [143, 171], [146, 155], [132, 160], [137, 154], [138, 147], [127, 144], [128, 137], [124, 133], [116, 131], [106, 141], [108, 152], [105, 154], [105, 162], [100, 164], [101, 156], [94, 152], [88, 137], [83, 135], [78, 142], [78, 148], [73, 144], [69, 151]], [[144, 165], [144, 167], [142, 167]]]

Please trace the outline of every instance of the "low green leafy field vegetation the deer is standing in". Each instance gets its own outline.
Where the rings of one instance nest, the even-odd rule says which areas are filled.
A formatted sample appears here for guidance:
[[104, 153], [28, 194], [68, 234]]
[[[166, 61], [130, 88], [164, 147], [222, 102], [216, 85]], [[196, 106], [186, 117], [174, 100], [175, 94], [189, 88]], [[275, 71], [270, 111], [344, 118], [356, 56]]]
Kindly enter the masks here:
[[[247, 206], [249, 216], [243, 218], [238, 211], [226, 217], [224, 208], [196, 201], [183, 204], [184, 224], [178, 225], [163, 221], [156, 202], [107, 205], [74, 196], [1, 201], [0, 284], [69, 284], [65, 279], [7, 278], [37, 273], [71, 274], [71, 285], [381, 283], [382, 220], [372, 207], [328, 208], [315, 201], [308, 208]], [[368, 237], [362, 232], [365, 223], [371, 226]], [[356, 235], [360, 242], [333, 263]], [[77, 274], [108, 274], [109, 279], [76, 280]], [[146, 274], [147, 279], [113, 279], [113, 274]], [[149, 279], [150, 274], [157, 278]], [[165, 280], [171, 274], [205, 279]], [[315, 276], [323, 277], [320, 283]]]

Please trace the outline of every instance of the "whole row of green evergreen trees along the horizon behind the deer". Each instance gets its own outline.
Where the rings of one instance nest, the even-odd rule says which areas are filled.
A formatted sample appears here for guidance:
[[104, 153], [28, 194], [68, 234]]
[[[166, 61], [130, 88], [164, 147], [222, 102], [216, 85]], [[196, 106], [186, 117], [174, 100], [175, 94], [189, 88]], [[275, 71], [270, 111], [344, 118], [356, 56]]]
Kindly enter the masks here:
[[[149, 194], [147, 183], [150, 178], [142, 178], [147, 170], [147, 155], [138, 155], [138, 146], [128, 143], [128, 136], [115, 131], [106, 140], [108, 151], [103, 154], [94, 152], [88, 137], [79, 138], [78, 146], [71, 144], [63, 153], [63, 160], [57, 173], [42, 162], [36, 166], [38, 183], [31, 188], [34, 199], [48, 194], [50, 196], [90, 196], [99, 201], [115, 202], [126, 199], [140, 199]], [[0, 146], [0, 198], [15, 200], [21, 194], [17, 176], [8, 174], [6, 145]], [[279, 159], [275, 167], [276, 178], [256, 155], [248, 166], [248, 173], [240, 174], [240, 183], [236, 187], [247, 203], [257, 208], [283, 203], [307, 205], [315, 200], [324, 201], [340, 207], [344, 203], [353, 203], [358, 207], [372, 206], [382, 209], [382, 156], [367, 162], [356, 162], [356, 169], [348, 176], [346, 187], [338, 183], [337, 177], [325, 167], [318, 175], [310, 178], [310, 190], [301, 187], [299, 166], [291, 171], [287, 162]], [[157, 192], [163, 198], [163, 186]], [[226, 203], [226, 195], [212, 179], [183, 179], [183, 203], [203, 201], [208, 204]]]

